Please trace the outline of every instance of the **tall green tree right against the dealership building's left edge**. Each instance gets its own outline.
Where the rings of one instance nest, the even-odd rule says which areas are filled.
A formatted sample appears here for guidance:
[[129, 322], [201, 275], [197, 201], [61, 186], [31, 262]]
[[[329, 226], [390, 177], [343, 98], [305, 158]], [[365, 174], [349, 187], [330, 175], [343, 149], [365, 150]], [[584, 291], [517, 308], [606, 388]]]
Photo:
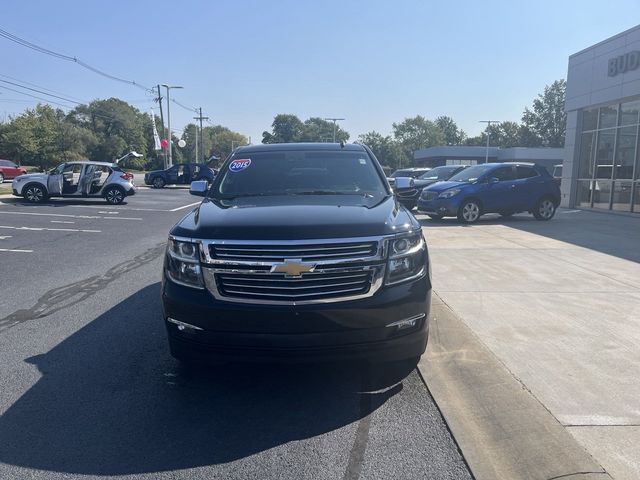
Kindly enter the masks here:
[[544, 147], [564, 147], [567, 114], [564, 101], [567, 82], [556, 80], [544, 87], [544, 92], [533, 101], [531, 110], [525, 108], [522, 115], [524, 125], [523, 140], [528, 145]]

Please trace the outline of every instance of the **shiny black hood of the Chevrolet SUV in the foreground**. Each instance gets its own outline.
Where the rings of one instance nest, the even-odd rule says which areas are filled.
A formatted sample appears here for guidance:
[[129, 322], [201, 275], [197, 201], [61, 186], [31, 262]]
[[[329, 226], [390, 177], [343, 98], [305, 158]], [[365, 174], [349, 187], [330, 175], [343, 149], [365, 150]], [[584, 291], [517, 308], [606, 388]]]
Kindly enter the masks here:
[[420, 224], [393, 196], [205, 199], [171, 230], [203, 239], [310, 240], [401, 233]]

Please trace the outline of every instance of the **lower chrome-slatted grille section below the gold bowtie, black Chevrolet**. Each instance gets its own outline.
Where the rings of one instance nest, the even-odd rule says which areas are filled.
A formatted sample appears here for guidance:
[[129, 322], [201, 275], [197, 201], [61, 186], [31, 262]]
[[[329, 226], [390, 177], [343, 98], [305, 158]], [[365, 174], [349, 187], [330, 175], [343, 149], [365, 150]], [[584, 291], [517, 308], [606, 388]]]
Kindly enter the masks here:
[[304, 302], [366, 294], [373, 270], [284, 274], [215, 273], [220, 295], [257, 301]]

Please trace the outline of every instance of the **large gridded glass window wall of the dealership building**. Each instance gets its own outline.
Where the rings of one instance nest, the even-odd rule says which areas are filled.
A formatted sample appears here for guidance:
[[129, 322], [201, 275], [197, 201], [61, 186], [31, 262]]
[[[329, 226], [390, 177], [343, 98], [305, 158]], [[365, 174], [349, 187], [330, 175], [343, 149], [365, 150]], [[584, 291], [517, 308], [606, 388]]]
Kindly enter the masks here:
[[582, 111], [575, 206], [640, 213], [640, 100]]

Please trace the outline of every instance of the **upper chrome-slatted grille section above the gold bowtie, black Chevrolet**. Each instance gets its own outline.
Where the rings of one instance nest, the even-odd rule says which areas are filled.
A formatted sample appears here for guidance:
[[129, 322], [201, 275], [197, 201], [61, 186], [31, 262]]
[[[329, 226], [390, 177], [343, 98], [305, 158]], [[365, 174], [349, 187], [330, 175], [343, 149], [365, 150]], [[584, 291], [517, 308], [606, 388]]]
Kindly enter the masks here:
[[228, 262], [283, 262], [285, 259], [302, 261], [343, 260], [371, 257], [377, 254], [378, 242], [318, 243], [295, 245], [233, 244], [209, 245], [214, 260]]

